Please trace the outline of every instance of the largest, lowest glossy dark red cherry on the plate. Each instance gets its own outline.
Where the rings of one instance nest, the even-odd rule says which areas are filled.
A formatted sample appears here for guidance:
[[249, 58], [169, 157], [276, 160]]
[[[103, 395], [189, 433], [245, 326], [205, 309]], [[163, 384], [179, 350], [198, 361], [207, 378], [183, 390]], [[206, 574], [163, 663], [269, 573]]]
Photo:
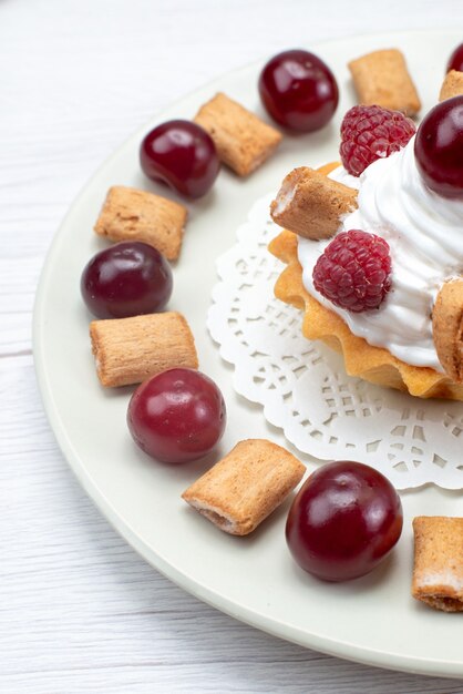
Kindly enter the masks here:
[[402, 504], [389, 480], [360, 462], [313, 472], [290, 508], [286, 540], [297, 563], [325, 581], [369, 573], [402, 532]]

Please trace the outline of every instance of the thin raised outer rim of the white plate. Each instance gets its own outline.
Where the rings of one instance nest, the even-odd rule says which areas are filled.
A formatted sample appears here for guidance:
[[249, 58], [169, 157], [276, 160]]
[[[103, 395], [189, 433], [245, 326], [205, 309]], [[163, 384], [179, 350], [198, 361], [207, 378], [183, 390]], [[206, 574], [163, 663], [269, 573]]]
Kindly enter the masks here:
[[[440, 28], [440, 29], [407, 29], [400, 31], [384, 31], [384, 32], [362, 32], [362, 33], [348, 33], [335, 39], [328, 39], [323, 41], [316, 41], [310, 44], [310, 50], [323, 50], [325, 48], [336, 47], [341, 42], [361, 40], [362, 38], [377, 38], [381, 37], [435, 37], [436, 34], [453, 34], [461, 37], [461, 32], [454, 28]], [[249, 606], [241, 605], [236, 601], [218, 594], [215, 590], [205, 586], [204, 584], [192, 579], [187, 573], [182, 572], [177, 567], [167, 562], [160, 553], [154, 552], [150, 545], [141, 538], [137, 532], [131, 527], [125, 518], [123, 518], [115, 507], [112, 504], [109, 497], [104, 493], [104, 490], [100, 488], [92, 476], [85, 469], [80, 460], [79, 455], [74, 450], [72, 441], [70, 440], [64, 426], [61, 422], [59, 411], [55, 407], [52, 388], [50, 386], [49, 376], [44, 365], [44, 344], [43, 344], [43, 319], [44, 312], [44, 297], [47, 295], [47, 286], [50, 280], [51, 268], [53, 267], [53, 258], [59, 253], [60, 241], [62, 231], [65, 227], [69, 220], [71, 220], [83, 200], [89, 187], [97, 178], [100, 173], [107, 166], [111, 166], [113, 160], [115, 160], [120, 153], [127, 146], [127, 144], [142, 136], [150, 127], [153, 127], [163, 118], [163, 113], [181, 104], [184, 100], [195, 95], [197, 92], [215, 85], [219, 85], [223, 80], [237, 75], [241, 71], [247, 71], [253, 68], [257, 68], [259, 64], [264, 64], [264, 61], [268, 58], [263, 57], [258, 60], [251, 61], [245, 65], [239, 65], [232, 70], [228, 70], [222, 74], [218, 74], [210, 80], [207, 80], [203, 84], [198, 85], [194, 90], [186, 92], [167, 103], [161, 110], [158, 110], [153, 116], [135, 129], [124, 141], [116, 146], [116, 149], [96, 167], [93, 174], [85, 181], [78, 195], [71, 203], [66, 214], [62, 218], [58, 229], [53, 234], [52, 242], [45, 254], [42, 269], [40, 273], [40, 279], [37, 287], [33, 316], [32, 316], [32, 354], [33, 364], [35, 370], [35, 377], [39, 385], [39, 391], [41, 395], [43, 408], [47, 415], [48, 422], [53, 432], [53, 436], [58, 442], [58, 446], [70, 466], [71, 470], [75, 474], [80, 484], [84, 489], [85, 493], [90, 497], [100, 512], [110, 522], [110, 524], [116, 530], [116, 532], [154, 569], [160, 571], [165, 578], [171, 580], [181, 589], [185, 590], [189, 594], [194, 595], [202, 602], [224, 612], [228, 616], [239, 620], [255, 629], [267, 632], [279, 639], [296, 643], [302, 647], [312, 649], [320, 653], [326, 653], [335, 657], [340, 657], [349, 661], [354, 661], [364, 665], [384, 667], [388, 670], [408, 672], [413, 674], [422, 674], [430, 676], [444, 676], [444, 677], [463, 677], [463, 663], [449, 660], [433, 660], [421, 659], [419, 656], [409, 656], [402, 654], [391, 654], [377, 649], [368, 649], [359, 646], [347, 641], [335, 640], [329, 636], [320, 636], [310, 632], [302, 631], [296, 626], [288, 625], [281, 621], [268, 618], [266, 614], [258, 610], [253, 610]]]

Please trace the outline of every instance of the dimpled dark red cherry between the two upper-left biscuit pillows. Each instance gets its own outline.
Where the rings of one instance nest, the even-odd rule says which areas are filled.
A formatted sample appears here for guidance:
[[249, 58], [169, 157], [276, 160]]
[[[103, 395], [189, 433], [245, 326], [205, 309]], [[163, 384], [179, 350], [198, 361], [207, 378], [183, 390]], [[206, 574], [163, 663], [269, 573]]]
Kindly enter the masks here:
[[202, 197], [214, 184], [220, 162], [210, 135], [191, 121], [167, 121], [143, 139], [140, 163], [148, 178], [186, 197]]

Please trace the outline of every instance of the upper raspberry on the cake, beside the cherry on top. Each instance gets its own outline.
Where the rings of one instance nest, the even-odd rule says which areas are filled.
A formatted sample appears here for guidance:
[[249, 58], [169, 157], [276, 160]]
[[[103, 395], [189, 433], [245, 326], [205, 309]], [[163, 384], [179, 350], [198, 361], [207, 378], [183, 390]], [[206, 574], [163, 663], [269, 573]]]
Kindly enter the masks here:
[[413, 121], [399, 111], [353, 106], [341, 123], [339, 153], [344, 169], [353, 176], [360, 176], [377, 159], [404, 147], [415, 130]]

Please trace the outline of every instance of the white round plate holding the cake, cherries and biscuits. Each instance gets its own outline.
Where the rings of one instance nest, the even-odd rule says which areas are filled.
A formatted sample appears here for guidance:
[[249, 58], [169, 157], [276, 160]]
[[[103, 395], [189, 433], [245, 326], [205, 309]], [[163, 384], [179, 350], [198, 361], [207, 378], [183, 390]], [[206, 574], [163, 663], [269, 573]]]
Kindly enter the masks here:
[[[288, 504], [246, 539], [228, 537], [182, 501], [181, 492], [236, 441], [266, 437], [285, 445], [261, 410], [232, 389], [230, 368], [206, 333], [215, 258], [235, 242], [251, 203], [276, 191], [294, 166], [332, 161], [338, 127], [353, 103], [346, 62], [378, 48], [399, 47], [423, 98], [436, 100], [445, 61], [461, 41], [455, 32], [413, 32], [350, 38], [310, 47], [333, 69], [341, 102], [319, 133], [285, 137], [278, 154], [247, 181], [223, 171], [214, 191], [189, 205], [182, 256], [174, 268], [171, 308], [183, 312], [196, 337], [200, 367], [222, 388], [228, 426], [207, 461], [167, 467], [133, 445], [125, 427], [131, 389], [100, 388], [91, 356], [80, 275], [103, 242], [92, 232], [110, 185], [151, 186], [138, 170], [144, 133], [172, 118], [192, 118], [216, 91], [263, 114], [257, 76], [263, 63], [225, 75], [186, 96], [135, 133], [96, 173], [71, 207], [43, 269], [34, 312], [34, 354], [45, 409], [68, 461], [105, 517], [156, 569], [214, 606], [272, 634], [364, 663], [426, 674], [463, 675], [462, 615], [434, 612], [410, 596], [411, 519], [463, 516], [463, 496], [434, 488], [402, 496], [405, 524], [393, 557], [364, 579], [325, 584], [300, 571], [284, 539]], [[165, 192], [165, 191], [163, 191]], [[167, 193], [168, 195], [168, 193]], [[303, 460], [309, 468], [313, 461]], [[439, 637], [436, 637], [439, 633]]]

